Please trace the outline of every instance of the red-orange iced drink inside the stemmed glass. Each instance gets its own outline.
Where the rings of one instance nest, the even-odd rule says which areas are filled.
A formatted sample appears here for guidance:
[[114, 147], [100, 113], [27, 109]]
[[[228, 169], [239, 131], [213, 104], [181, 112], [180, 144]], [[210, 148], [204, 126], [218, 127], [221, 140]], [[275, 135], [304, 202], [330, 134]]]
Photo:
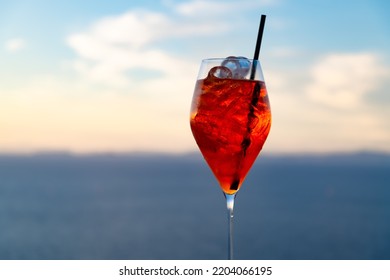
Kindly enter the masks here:
[[198, 80], [191, 107], [191, 130], [203, 157], [226, 194], [241, 187], [271, 127], [264, 82]]

